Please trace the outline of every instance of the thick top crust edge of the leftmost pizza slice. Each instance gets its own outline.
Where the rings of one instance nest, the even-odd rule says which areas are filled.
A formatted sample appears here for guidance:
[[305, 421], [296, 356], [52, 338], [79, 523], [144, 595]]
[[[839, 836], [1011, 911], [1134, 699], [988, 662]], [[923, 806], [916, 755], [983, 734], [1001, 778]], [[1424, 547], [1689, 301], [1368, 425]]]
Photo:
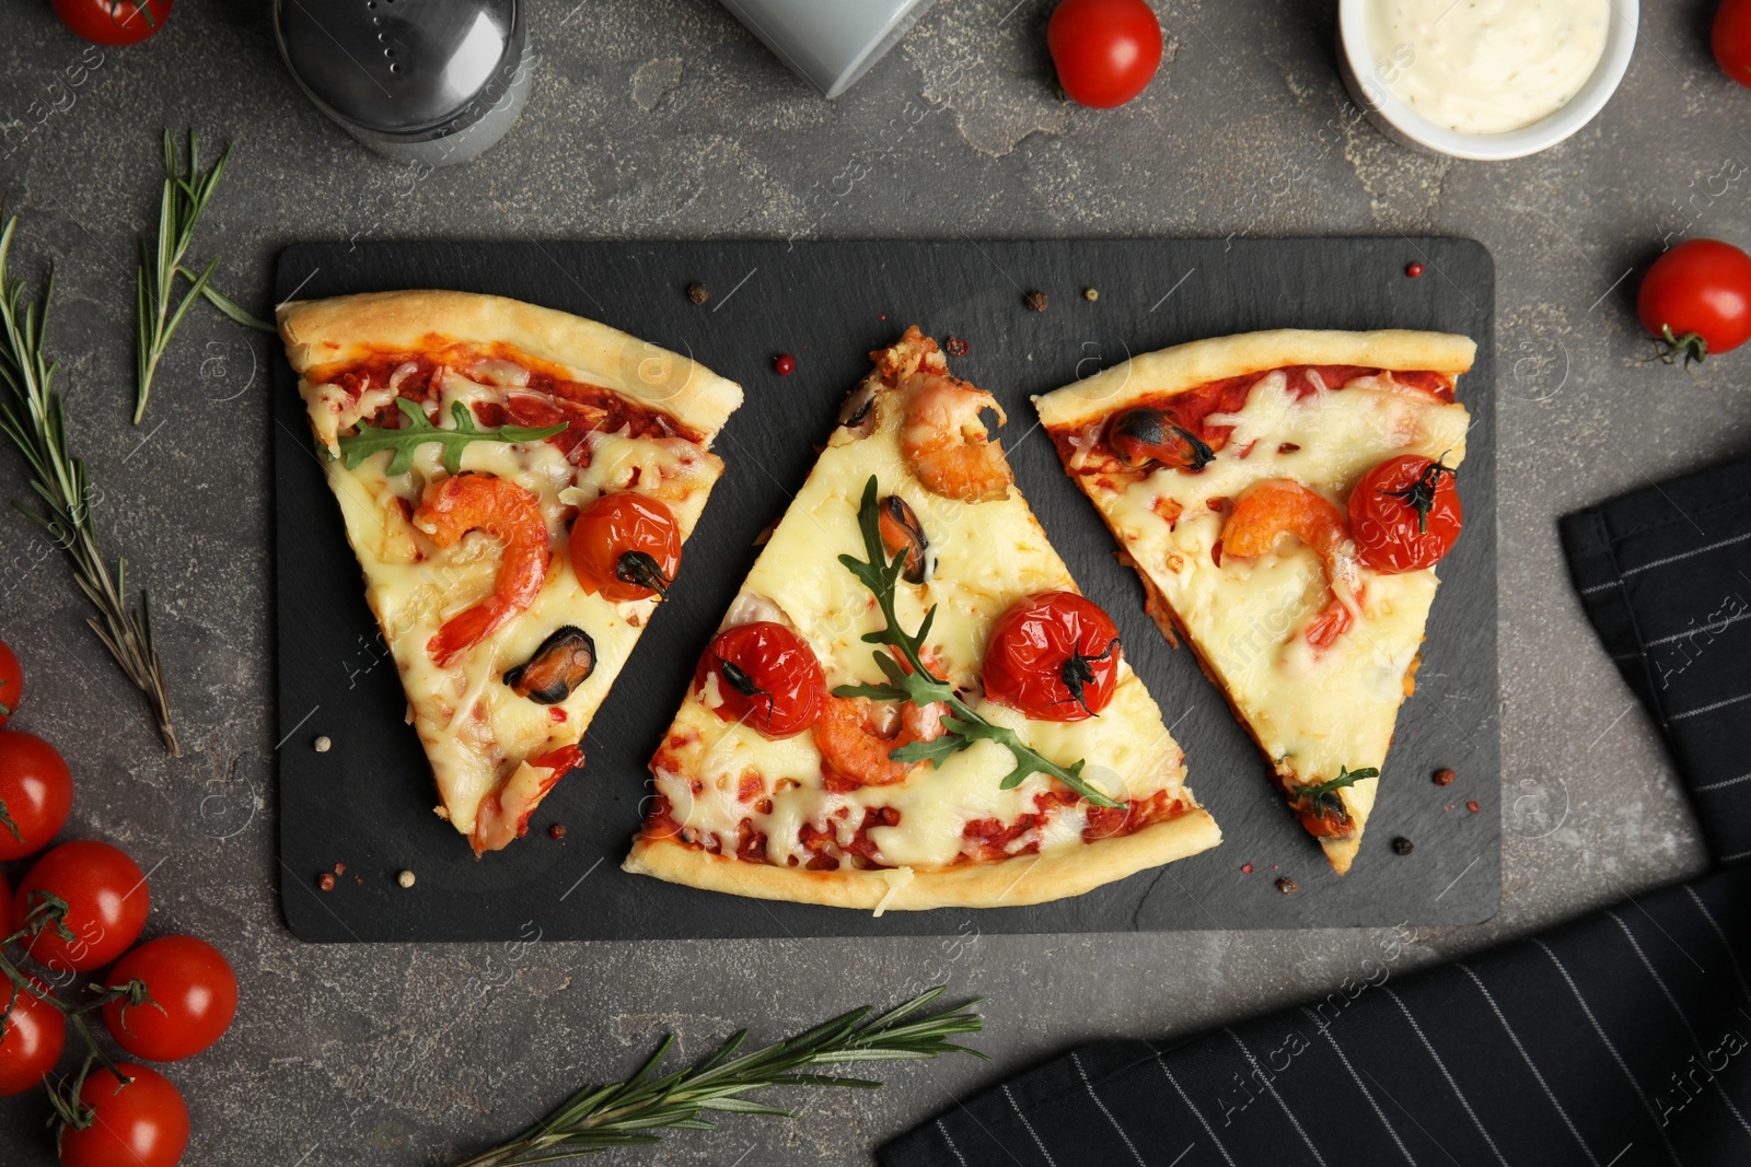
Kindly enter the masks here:
[[503, 343], [667, 413], [709, 446], [742, 388], [679, 353], [567, 311], [473, 292], [364, 292], [289, 301], [278, 310], [285, 357], [299, 376], [376, 352], [420, 352], [455, 341]]

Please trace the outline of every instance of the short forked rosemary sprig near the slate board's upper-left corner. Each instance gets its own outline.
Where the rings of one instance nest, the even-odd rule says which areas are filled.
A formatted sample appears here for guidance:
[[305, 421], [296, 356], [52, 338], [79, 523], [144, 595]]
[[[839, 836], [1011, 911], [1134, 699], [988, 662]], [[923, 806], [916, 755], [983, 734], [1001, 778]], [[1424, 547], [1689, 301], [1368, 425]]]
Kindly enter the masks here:
[[[238, 324], [249, 327], [266, 324], [254, 320], [254, 317], [242, 320], [226, 308], [229, 304], [238, 313], [249, 315], [235, 303], [224, 296], [219, 296], [219, 299], [208, 296], [207, 289], [212, 285], [214, 271], [219, 269], [217, 255], [198, 275], [182, 266], [182, 257], [187, 255], [189, 243], [194, 241], [194, 227], [200, 224], [201, 212], [207, 210], [207, 199], [214, 196], [219, 178], [224, 177], [224, 164], [229, 157], [231, 147], [228, 145], [219, 154], [219, 161], [212, 164], [212, 170], [201, 173], [200, 138], [191, 129], [187, 173], [179, 175], [177, 143], [170, 136], [170, 131], [165, 131], [165, 187], [158, 203], [158, 238], [152, 243], [140, 240], [140, 269], [135, 275], [135, 315], [138, 320], [138, 345], [135, 348], [135, 425], [145, 416], [145, 401], [152, 395], [152, 374], [158, 371], [158, 362], [196, 299], [205, 296], [215, 308]], [[193, 285], [172, 306], [177, 296], [179, 275], [186, 275]]]

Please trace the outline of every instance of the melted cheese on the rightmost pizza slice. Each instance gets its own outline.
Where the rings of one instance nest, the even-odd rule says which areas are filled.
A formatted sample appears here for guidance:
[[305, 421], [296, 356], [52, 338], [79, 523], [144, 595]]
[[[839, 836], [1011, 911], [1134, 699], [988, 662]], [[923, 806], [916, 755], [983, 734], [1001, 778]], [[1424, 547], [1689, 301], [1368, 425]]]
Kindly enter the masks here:
[[[1159, 467], [1136, 481], [1080, 481], [1166, 597], [1278, 773], [1320, 782], [1338, 777], [1340, 766], [1380, 766], [1434, 600], [1434, 570], [1383, 576], [1359, 567], [1361, 619], [1329, 649], [1315, 651], [1301, 633], [1329, 597], [1319, 556], [1283, 539], [1275, 553], [1226, 556], [1217, 565], [1212, 549], [1222, 537], [1224, 511], [1233, 507], [1215, 509], [1212, 500], [1290, 478], [1347, 513], [1355, 481], [1394, 455], [1445, 457], [1459, 465], [1466, 408], [1406, 390], [1389, 376], [1297, 399], [1283, 374], [1273, 373], [1252, 388], [1245, 408], [1210, 422], [1234, 432], [1201, 472]], [[1163, 518], [1173, 514], [1163, 500], [1182, 507], [1175, 523]], [[1373, 784], [1357, 784], [1355, 794], [1371, 801]]]

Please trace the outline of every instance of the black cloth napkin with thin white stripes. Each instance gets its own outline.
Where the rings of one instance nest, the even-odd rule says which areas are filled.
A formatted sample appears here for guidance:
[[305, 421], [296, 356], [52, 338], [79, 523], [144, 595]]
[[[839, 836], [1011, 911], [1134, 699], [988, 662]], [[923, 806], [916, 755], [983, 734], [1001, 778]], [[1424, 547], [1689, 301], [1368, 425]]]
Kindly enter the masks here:
[[[1751, 857], [1751, 462], [1562, 521], [1576, 588], [1723, 863]], [[1324, 1001], [1107, 1041], [956, 1101], [883, 1167], [1751, 1164], [1751, 866]]]

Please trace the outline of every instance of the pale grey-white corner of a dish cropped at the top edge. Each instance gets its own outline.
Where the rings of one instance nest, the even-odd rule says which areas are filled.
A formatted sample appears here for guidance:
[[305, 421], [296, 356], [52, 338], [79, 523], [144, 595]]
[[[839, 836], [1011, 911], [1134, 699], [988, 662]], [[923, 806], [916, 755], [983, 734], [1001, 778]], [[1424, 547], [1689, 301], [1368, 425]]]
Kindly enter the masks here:
[[720, 0], [791, 70], [837, 98], [935, 0]]

